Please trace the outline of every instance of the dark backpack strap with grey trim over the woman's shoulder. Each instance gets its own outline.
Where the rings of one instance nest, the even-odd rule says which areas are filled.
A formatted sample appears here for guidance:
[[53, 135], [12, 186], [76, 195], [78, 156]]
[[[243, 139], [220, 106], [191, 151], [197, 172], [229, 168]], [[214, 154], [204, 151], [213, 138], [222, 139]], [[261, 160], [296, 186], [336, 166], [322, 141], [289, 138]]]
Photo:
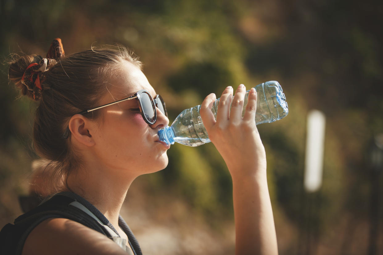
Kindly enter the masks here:
[[[21, 254], [25, 240], [30, 232], [48, 218], [65, 218], [81, 223], [109, 237], [126, 250], [126, 240], [119, 236], [113, 225], [97, 208], [75, 193], [61, 192], [28, 213], [16, 218], [14, 225], [10, 223], [5, 225], [0, 232], [0, 253]], [[124, 231], [126, 232], [125, 229]], [[130, 231], [131, 236], [128, 233], [126, 232], [128, 238], [132, 238], [131, 240], [136, 242], [133, 233]], [[131, 240], [129, 240], [129, 244], [134, 254], [142, 255], [139, 245], [131, 244]], [[138, 250], [136, 250], [136, 247]]]

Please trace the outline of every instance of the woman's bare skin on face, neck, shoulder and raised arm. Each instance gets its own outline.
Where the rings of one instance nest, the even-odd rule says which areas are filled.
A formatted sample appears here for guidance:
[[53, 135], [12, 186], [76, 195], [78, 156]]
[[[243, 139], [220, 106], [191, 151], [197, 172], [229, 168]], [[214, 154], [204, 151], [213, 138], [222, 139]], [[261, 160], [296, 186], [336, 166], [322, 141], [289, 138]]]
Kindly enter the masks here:
[[[109, 81], [103, 105], [123, 99], [140, 89], [155, 91], [133, 64], [121, 63], [121, 72]], [[223, 157], [233, 182], [236, 254], [278, 254], [273, 212], [267, 187], [266, 154], [255, 125], [257, 93], [251, 89], [242, 118], [246, 88], [224, 90], [217, 119], [211, 107], [215, 94], [201, 104], [201, 118], [209, 138]], [[230, 110], [230, 104], [232, 107]], [[125, 101], [100, 109], [99, 120], [76, 114], [69, 121], [71, 141], [82, 155], [83, 167], [69, 175], [70, 189], [86, 198], [127, 238], [118, 226], [118, 214], [133, 180], [164, 169], [169, 146], [159, 142], [158, 130], [169, 120], [157, 109], [157, 122], [148, 125], [137, 101]], [[67, 245], [70, 244], [70, 245]], [[47, 219], [29, 234], [23, 255], [30, 254], [126, 254], [102, 234], [68, 219]]]

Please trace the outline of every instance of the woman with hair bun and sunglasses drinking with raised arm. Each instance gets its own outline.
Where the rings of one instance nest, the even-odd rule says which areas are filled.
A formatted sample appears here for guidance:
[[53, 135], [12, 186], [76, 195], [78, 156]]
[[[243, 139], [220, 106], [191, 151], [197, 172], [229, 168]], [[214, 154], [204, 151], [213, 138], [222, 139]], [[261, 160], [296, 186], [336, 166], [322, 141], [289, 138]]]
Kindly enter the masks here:
[[[24, 233], [21, 254], [139, 254], [119, 211], [137, 176], [167, 166], [170, 148], [157, 135], [169, 124], [165, 105], [141, 62], [123, 47], [65, 57], [55, 39], [47, 58], [30, 55], [12, 62], [9, 78], [22, 94], [40, 101], [33, 144], [51, 161], [57, 191], [115, 233], [113, 238], [80, 220], [49, 216]], [[277, 254], [265, 150], [255, 126], [257, 94], [250, 90], [242, 119], [245, 91], [241, 84], [234, 99], [232, 87], [223, 91], [217, 120], [210, 110], [216, 96], [208, 95], [201, 118], [232, 177], [236, 254]]]

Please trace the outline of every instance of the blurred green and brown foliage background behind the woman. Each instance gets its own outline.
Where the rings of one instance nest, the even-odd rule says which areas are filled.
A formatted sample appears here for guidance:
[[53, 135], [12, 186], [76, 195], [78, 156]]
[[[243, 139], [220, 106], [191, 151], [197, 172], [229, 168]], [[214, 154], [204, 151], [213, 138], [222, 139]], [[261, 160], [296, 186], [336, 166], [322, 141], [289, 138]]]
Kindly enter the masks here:
[[[1, 0], [0, 58], [121, 43], [144, 63], [170, 123], [228, 85], [282, 85], [289, 115], [258, 126], [280, 254], [382, 254], [383, 2]], [[28, 192], [33, 112], [0, 70], [0, 227]], [[326, 116], [320, 189], [303, 186], [306, 120]], [[139, 177], [122, 214], [144, 254], [234, 254], [230, 175], [214, 145], [179, 144]]]

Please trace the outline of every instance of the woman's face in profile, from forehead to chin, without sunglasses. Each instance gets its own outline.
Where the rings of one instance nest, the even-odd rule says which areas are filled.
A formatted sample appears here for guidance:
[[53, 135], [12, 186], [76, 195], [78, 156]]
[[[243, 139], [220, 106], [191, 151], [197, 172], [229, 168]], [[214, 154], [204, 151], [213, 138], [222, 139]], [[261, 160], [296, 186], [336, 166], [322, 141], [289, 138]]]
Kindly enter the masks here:
[[[121, 63], [119, 75], [110, 83], [100, 105], [126, 98], [140, 89], [149, 91], [153, 98], [156, 96], [144, 73], [128, 61]], [[103, 111], [100, 126], [94, 134], [97, 136], [95, 156], [106, 167], [138, 176], [167, 166], [169, 146], [159, 142], [157, 133], [169, 124], [169, 119], [158, 108], [153, 125], [142, 119], [136, 99], [100, 110]]]

